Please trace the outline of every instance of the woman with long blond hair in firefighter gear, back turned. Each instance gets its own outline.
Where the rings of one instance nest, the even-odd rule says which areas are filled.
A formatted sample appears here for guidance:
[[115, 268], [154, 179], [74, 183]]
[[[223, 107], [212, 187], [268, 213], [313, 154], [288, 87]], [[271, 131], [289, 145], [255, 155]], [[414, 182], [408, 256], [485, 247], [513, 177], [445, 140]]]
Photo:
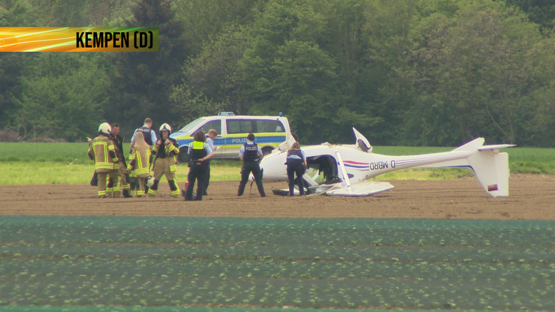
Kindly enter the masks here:
[[139, 188], [136, 190], [137, 197], [145, 195], [145, 178], [150, 177], [150, 149], [147, 142], [144, 141], [142, 132], [135, 132], [135, 145], [129, 155], [129, 164], [127, 170], [133, 170], [133, 176], [137, 177]]

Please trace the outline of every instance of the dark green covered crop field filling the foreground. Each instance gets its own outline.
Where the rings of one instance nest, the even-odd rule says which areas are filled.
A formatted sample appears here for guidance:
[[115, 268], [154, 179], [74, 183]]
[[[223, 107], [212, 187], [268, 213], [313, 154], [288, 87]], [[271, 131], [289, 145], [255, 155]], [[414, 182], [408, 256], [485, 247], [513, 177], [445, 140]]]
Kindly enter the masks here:
[[3, 216], [0, 310], [555, 310], [554, 229], [547, 221]]

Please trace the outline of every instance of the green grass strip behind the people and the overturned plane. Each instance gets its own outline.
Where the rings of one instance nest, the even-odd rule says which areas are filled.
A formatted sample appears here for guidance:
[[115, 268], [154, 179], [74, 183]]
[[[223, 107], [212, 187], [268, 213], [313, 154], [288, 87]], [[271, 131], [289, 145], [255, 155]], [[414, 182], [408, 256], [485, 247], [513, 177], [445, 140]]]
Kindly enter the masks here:
[[[124, 150], [129, 144], [124, 144]], [[408, 155], [446, 152], [441, 147], [374, 147], [374, 153]], [[87, 155], [88, 143], [0, 143], [0, 169], [9, 179], [0, 185], [86, 184], [94, 171]], [[555, 174], [555, 149], [509, 148], [511, 173]], [[239, 180], [239, 161], [213, 160], [211, 180]], [[178, 165], [177, 180], [185, 182], [186, 164]], [[380, 175], [379, 180], [445, 180], [473, 178], [468, 169], [406, 169]]]

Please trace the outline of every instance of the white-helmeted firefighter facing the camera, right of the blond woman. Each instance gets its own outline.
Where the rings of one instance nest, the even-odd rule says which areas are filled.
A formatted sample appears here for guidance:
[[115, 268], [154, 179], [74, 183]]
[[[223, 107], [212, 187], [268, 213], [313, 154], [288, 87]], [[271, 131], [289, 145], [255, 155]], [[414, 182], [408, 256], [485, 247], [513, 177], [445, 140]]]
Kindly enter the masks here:
[[154, 143], [151, 155], [151, 169], [154, 172], [154, 181], [152, 187], [148, 190], [149, 197], [154, 197], [158, 191], [158, 183], [162, 175], [165, 175], [170, 185], [171, 196], [179, 197], [181, 191], [177, 187], [175, 172], [177, 171], [177, 155], [179, 148], [177, 141], [170, 138], [171, 127], [169, 124], [160, 126], [160, 139]]

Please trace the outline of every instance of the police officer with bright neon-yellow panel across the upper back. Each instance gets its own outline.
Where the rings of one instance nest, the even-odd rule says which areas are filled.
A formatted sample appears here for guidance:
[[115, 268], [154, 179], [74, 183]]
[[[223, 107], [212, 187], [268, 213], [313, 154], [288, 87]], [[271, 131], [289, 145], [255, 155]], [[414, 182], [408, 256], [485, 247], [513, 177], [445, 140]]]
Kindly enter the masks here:
[[212, 157], [212, 149], [206, 143], [206, 136], [203, 130], [195, 132], [194, 141], [189, 143], [187, 154], [189, 158], [189, 174], [187, 179], [189, 185], [185, 192], [185, 201], [193, 199], [193, 188], [196, 180], [196, 196], [195, 200], [203, 200], [206, 170], [208, 169], [207, 160]]

